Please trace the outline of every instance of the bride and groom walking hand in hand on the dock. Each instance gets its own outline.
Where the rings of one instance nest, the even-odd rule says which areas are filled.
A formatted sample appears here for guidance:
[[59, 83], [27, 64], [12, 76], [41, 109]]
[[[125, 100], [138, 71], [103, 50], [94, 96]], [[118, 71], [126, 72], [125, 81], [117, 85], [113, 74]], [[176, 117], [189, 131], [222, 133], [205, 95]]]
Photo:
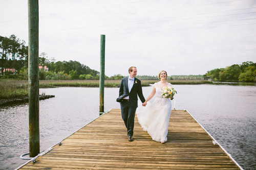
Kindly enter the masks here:
[[[170, 99], [162, 97], [162, 89], [172, 86], [166, 82], [167, 72], [161, 71], [158, 75], [159, 82], [153, 85], [153, 90], [145, 100], [142, 94], [141, 82], [136, 78], [137, 68], [129, 68], [129, 76], [121, 80], [119, 89], [122, 119], [127, 128], [129, 141], [133, 141], [134, 117], [138, 107], [138, 96], [142, 106], [137, 109], [137, 118], [144, 131], [152, 137], [153, 140], [164, 143], [167, 141], [168, 125], [172, 103]], [[147, 103], [153, 96], [156, 98], [153, 103]]]

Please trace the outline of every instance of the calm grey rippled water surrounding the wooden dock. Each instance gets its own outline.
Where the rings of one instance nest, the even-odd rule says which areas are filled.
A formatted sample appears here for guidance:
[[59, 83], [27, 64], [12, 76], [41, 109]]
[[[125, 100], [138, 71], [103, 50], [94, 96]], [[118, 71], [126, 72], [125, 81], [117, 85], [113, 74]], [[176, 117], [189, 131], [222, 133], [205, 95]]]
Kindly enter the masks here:
[[[188, 110], [244, 169], [256, 169], [255, 86], [174, 88], [177, 110]], [[115, 102], [118, 90], [105, 88], [105, 111], [120, 107]], [[143, 87], [145, 98], [151, 90]], [[42, 92], [55, 98], [40, 101], [41, 152], [98, 116], [99, 88], [61, 87], [40, 89]], [[19, 156], [29, 152], [28, 105], [0, 108], [0, 118], [0, 168], [14, 169], [27, 162]]]

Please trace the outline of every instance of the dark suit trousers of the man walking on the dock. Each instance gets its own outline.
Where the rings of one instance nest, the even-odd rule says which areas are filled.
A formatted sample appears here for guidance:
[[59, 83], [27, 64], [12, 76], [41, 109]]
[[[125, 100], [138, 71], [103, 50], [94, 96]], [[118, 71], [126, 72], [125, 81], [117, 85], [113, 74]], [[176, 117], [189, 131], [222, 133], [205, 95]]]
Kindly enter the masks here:
[[121, 114], [124, 125], [127, 129], [127, 136], [133, 136], [134, 117], [137, 106], [132, 105], [130, 101], [124, 100], [120, 103]]

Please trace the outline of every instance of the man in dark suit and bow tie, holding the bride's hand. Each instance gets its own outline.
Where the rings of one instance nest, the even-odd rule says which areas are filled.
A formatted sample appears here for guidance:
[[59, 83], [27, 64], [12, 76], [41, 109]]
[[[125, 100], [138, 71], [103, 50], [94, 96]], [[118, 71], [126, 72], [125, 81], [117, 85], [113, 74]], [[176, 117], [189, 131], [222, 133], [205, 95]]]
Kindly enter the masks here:
[[134, 117], [135, 111], [138, 107], [138, 96], [143, 103], [145, 102], [144, 96], [142, 94], [141, 82], [136, 79], [137, 68], [129, 68], [129, 76], [121, 80], [119, 89], [119, 98], [117, 102], [120, 102], [122, 119], [127, 128], [128, 140], [133, 141], [133, 128], [134, 128]]

